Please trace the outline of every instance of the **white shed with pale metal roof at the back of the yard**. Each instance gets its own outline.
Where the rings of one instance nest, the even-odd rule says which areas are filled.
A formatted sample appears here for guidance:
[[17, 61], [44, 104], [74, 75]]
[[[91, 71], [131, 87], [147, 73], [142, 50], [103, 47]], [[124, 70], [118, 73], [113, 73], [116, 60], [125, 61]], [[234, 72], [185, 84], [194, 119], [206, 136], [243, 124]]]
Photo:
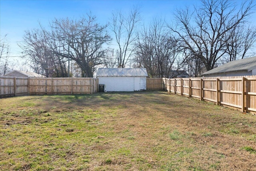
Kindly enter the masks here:
[[146, 68], [99, 68], [96, 76], [104, 91], [140, 91], [146, 89], [148, 73]]

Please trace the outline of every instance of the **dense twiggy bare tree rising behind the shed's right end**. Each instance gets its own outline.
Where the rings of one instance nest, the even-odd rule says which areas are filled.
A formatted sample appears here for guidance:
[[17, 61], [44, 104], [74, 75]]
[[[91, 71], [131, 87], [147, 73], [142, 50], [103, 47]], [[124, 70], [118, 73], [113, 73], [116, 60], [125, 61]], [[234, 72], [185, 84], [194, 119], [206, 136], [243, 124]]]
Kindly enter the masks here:
[[149, 28], [140, 32], [136, 41], [137, 67], [147, 69], [150, 77], [173, 77], [173, 70], [182, 68], [179, 62], [179, 46], [166, 29], [164, 20], [154, 19]]

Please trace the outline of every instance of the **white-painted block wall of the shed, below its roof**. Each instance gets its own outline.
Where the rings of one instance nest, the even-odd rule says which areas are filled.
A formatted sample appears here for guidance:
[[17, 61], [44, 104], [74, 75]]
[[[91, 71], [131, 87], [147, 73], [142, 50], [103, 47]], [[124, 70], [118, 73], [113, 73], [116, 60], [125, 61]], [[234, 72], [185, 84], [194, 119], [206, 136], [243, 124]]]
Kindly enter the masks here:
[[146, 89], [146, 77], [98, 77], [105, 91], [139, 91]]

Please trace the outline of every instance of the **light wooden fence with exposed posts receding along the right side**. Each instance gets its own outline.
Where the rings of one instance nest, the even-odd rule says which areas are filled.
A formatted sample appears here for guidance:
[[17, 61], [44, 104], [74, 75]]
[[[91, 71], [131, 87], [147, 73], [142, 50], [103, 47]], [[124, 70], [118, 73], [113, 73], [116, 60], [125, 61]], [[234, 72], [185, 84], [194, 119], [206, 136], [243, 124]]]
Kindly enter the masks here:
[[166, 91], [256, 112], [256, 76], [162, 80]]

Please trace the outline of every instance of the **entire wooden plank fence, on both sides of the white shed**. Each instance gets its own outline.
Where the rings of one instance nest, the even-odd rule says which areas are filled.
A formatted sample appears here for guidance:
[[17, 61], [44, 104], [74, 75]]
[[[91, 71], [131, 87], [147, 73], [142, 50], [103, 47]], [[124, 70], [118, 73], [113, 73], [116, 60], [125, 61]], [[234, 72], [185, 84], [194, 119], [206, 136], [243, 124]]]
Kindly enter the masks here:
[[[256, 113], [256, 76], [214, 78], [147, 78], [146, 89], [166, 90], [217, 105]], [[98, 78], [0, 77], [0, 97], [42, 94], [92, 94]]]

